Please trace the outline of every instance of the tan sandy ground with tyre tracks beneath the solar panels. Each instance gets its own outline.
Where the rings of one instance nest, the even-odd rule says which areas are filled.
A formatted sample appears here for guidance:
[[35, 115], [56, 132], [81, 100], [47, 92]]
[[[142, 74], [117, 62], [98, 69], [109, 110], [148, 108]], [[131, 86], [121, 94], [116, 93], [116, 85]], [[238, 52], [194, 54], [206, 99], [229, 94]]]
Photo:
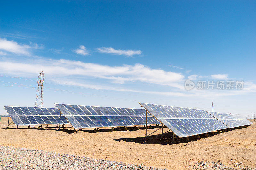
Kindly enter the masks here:
[[[237, 169], [237, 163], [256, 168], [256, 123], [249, 127], [221, 132], [209, 137], [201, 135], [200, 139], [191, 137], [190, 142], [177, 138], [172, 144], [172, 132], [165, 134], [166, 139], [159, 140], [161, 130], [144, 142], [145, 128], [140, 130], [130, 127], [100, 129], [93, 133], [92, 129], [73, 131], [70, 125], [66, 128], [28, 129], [20, 126], [5, 129], [8, 118], [1, 118], [0, 144], [70, 155], [86, 156], [96, 159], [119, 161], [124, 163], [154, 166], [167, 169], [191, 169], [197, 161], [221, 162]], [[4, 125], [3, 125], [4, 124]], [[147, 129], [148, 134], [156, 128]], [[164, 128], [164, 132], [168, 131]]]

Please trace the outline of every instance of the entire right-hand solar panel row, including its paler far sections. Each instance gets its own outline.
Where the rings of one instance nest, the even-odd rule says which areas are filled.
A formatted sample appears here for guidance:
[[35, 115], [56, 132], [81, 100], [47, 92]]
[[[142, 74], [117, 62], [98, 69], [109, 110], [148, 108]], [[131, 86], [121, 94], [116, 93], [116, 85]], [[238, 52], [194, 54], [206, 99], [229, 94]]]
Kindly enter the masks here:
[[[252, 124], [252, 122], [238, 115], [232, 116], [222, 113], [206, 112], [204, 110], [146, 103], [140, 103], [140, 105], [154, 115], [160, 122], [164, 123], [178, 137], [188, 137], [215, 130]], [[182, 117], [182, 119], [179, 119], [177, 115]], [[196, 117], [198, 119], [195, 119]]]

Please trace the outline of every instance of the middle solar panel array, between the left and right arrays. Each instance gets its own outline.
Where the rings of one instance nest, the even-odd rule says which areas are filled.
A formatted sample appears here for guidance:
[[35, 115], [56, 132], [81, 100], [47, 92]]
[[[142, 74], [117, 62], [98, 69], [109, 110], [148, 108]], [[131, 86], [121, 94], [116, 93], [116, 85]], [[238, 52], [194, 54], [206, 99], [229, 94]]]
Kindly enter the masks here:
[[[75, 129], [145, 125], [145, 110], [55, 104]], [[160, 124], [148, 114], [147, 124]]]

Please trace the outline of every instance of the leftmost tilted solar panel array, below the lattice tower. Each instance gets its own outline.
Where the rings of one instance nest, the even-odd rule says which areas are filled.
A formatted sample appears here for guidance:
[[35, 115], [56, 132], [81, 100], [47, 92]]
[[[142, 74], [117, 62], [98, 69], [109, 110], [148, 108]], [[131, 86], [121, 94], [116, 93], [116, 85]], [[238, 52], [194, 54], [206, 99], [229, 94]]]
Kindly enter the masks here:
[[68, 121], [61, 116], [57, 108], [12, 107], [4, 106], [15, 125], [65, 124]]

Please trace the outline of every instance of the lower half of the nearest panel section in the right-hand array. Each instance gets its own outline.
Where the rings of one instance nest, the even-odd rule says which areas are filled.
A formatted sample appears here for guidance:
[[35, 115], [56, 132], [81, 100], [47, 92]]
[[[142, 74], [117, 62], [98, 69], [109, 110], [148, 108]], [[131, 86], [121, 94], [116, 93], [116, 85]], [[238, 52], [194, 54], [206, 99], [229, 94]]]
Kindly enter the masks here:
[[227, 126], [217, 119], [160, 119], [179, 137], [188, 137], [215, 130], [226, 129]]

